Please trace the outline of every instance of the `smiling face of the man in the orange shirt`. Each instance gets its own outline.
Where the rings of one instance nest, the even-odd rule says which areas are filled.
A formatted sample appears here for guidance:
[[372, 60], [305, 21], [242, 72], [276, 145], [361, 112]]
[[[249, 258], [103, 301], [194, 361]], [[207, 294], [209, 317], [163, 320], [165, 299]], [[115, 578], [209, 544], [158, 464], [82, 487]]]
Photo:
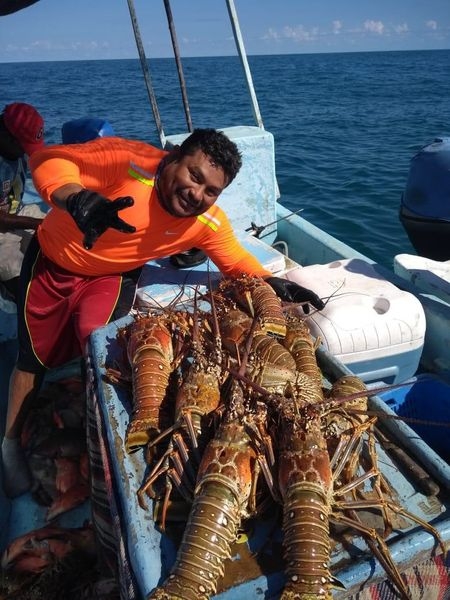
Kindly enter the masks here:
[[170, 160], [158, 181], [161, 204], [175, 217], [194, 217], [206, 212], [228, 181], [223, 169], [201, 150]]

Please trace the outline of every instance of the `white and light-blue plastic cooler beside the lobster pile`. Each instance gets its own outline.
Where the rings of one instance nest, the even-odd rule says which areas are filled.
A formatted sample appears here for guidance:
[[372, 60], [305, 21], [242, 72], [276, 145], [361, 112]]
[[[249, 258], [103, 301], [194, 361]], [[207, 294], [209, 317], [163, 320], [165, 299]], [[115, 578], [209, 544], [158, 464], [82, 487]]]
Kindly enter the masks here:
[[286, 277], [326, 301], [308, 318], [311, 333], [363, 381], [398, 383], [415, 374], [425, 314], [413, 294], [360, 259], [299, 267]]

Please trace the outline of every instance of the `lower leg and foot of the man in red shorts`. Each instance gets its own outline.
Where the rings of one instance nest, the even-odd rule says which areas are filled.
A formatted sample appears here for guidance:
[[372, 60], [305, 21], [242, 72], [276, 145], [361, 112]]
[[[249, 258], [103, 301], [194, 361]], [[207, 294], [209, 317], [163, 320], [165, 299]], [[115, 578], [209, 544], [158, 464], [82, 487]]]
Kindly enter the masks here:
[[17, 367], [9, 381], [8, 412], [2, 442], [3, 489], [9, 498], [20, 496], [31, 487], [31, 473], [20, 443], [27, 408], [36, 396], [42, 375], [21, 371]]

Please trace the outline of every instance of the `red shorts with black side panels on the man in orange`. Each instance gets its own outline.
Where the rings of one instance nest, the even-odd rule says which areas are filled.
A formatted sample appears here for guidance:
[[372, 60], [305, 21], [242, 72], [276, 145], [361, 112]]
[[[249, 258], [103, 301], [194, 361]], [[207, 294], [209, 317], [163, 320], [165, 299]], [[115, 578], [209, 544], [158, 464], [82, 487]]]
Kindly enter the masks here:
[[34, 237], [20, 275], [18, 367], [37, 373], [82, 356], [94, 329], [129, 312], [139, 273], [74, 275], [43, 256]]

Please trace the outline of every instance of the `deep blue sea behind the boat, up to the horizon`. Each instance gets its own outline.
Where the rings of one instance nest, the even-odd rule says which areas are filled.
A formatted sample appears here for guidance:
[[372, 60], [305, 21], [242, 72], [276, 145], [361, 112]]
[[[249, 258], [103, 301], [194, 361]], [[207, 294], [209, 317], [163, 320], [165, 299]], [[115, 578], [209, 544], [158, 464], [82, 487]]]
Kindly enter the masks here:
[[[414, 253], [399, 222], [410, 160], [450, 136], [450, 50], [250, 56], [265, 129], [275, 137], [280, 202], [392, 265]], [[165, 135], [187, 130], [173, 59], [149, 60]], [[239, 58], [183, 60], [194, 127], [255, 124]], [[34, 104], [46, 139], [64, 121], [106, 118], [159, 145], [139, 60], [2, 64], [3, 104]]]

